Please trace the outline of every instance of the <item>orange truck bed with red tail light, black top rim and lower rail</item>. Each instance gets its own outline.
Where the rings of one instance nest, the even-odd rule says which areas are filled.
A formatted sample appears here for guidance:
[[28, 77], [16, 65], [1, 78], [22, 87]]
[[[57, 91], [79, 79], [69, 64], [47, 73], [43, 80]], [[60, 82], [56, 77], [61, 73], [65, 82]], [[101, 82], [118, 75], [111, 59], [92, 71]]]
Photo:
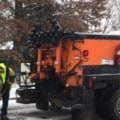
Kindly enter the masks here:
[[[73, 40], [63, 41], [61, 59], [64, 74], [76, 73], [68, 78], [67, 86], [82, 86], [86, 76], [89, 80], [98, 80], [101, 76], [100, 80], [110, 80], [117, 74], [118, 79], [120, 69], [119, 65], [115, 67], [115, 55], [119, 46], [119, 35], [75, 33]], [[103, 77], [105, 75], [106, 78]]]

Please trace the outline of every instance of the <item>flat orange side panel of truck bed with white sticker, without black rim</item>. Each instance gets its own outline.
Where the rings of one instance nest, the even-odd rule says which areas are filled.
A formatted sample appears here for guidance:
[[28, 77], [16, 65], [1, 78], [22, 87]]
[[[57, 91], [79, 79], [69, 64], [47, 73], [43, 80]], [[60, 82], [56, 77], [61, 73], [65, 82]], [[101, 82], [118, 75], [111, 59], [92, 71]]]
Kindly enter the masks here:
[[82, 49], [89, 51], [88, 61], [83, 65], [113, 64], [114, 55], [120, 40], [110, 39], [85, 39]]

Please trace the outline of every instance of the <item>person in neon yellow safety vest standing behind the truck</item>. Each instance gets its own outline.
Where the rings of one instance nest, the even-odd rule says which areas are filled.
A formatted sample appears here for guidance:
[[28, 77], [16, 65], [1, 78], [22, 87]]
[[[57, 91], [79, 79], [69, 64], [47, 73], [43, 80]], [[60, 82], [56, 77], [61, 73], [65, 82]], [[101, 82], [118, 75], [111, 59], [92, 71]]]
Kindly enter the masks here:
[[1, 120], [9, 120], [7, 117], [9, 92], [14, 82], [15, 72], [5, 63], [0, 63], [0, 95], [2, 99]]

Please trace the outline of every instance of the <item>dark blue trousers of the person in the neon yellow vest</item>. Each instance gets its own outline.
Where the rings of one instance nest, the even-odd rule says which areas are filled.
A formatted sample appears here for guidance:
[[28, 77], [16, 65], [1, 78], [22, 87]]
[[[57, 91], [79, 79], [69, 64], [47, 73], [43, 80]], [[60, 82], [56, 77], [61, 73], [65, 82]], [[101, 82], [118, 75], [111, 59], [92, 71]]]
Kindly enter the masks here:
[[1, 116], [7, 115], [7, 109], [8, 109], [8, 101], [9, 101], [9, 89], [5, 89], [3, 95], [2, 95], [2, 109], [1, 109]]

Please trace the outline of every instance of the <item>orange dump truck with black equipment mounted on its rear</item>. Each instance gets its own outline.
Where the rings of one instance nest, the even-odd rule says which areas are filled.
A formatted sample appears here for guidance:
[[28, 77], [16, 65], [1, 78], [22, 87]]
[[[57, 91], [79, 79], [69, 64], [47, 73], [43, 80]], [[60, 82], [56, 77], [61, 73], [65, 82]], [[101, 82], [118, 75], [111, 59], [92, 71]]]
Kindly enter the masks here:
[[70, 110], [72, 120], [120, 120], [120, 35], [65, 33], [55, 19], [50, 24], [47, 32], [33, 26], [23, 51], [30, 72], [21, 73], [17, 102]]

